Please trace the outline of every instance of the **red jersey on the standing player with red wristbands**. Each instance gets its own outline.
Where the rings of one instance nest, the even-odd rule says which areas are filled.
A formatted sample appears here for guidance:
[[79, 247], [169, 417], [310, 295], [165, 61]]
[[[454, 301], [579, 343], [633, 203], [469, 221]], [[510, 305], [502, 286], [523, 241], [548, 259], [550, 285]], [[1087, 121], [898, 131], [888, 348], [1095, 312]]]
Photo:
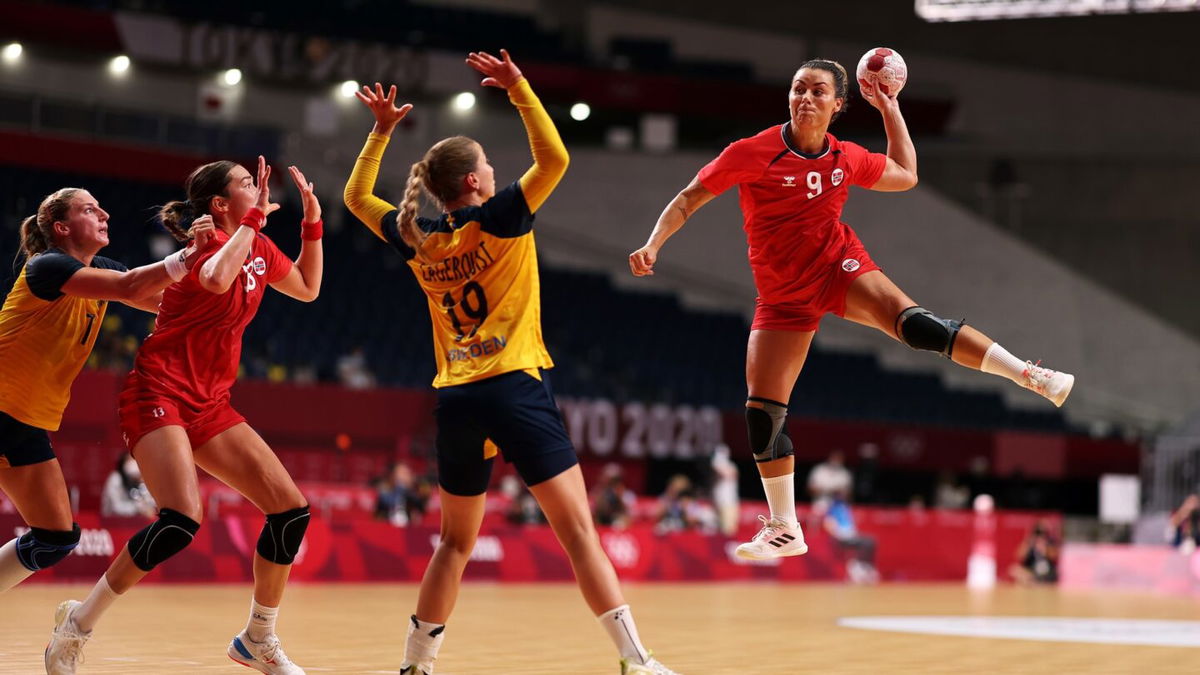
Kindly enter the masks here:
[[202, 410], [228, 395], [238, 378], [241, 335], [254, 318], [269, 283], [292, 271], [292, 261], [259, 233], [241, 271], [224, 293], [200, 286], [200, 268], [229, 235], [216, 232], [216, 244], [200, 255], [187, 276], [162, 294], [154, 333], [146, 336], [133, 362], [142, 384]]

